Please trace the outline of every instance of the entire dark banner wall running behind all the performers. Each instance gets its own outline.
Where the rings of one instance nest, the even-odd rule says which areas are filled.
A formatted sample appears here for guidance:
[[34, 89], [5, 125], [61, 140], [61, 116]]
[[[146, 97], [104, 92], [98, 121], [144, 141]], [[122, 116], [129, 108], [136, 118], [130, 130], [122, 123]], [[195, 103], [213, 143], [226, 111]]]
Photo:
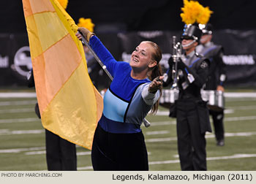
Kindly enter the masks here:
[[[118, 61], [129, 62], [135, 47], [143, 40], [156, 42], [162, 49], [163, 72], [168, 69], [171, 56], [172, 37], [180, 42], [181, 31], [133, 31], [118, 34], [97, 34], [105, 47]], [[213, 42], [224, 47], [227, 81], [226, 86], [256, 86], [256, 30], [214, 31]], [[0, 34], [0, 87], [26, 86], [26, 74], [31, 69], [29, 42], [27, 34]], [[101, 85], [105, 78], [102, 77]], [[106, 80], [108, 83], [109, 80]]]

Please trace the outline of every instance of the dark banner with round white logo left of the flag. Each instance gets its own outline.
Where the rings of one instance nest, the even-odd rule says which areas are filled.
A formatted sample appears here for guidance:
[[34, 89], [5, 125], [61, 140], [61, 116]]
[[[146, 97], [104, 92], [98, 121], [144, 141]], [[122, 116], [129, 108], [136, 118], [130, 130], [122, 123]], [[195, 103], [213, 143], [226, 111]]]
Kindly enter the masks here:
[[26, 34], [0, 34], [0, 86], [26, 86], [31, 69]]

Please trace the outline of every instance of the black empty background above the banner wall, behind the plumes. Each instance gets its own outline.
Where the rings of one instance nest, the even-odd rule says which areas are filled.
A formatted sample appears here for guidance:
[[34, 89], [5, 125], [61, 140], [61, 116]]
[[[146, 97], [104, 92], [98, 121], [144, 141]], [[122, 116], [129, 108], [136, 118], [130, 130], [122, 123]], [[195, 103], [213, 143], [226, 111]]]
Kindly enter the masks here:
[[[40, 1], [40, 0], [38, 0]], [[215, 29], [255, 29], [255, 0], [199, 1], [214, 14], [210, 22]], [[67, 12], [78, 19], [91, 18], [95, 31], [181, 30], [182, 0], [69, 0]], [[26, 32], [21, 0], [0, 0], [1, 33]]]

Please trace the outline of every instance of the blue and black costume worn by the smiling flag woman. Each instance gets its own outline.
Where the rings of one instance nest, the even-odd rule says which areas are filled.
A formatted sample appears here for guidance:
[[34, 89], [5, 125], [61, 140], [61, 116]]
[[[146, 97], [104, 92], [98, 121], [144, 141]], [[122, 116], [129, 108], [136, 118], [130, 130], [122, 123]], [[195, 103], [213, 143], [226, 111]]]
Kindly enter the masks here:
[[140, 125], [159, 99], [159, 91], [149, 93], [151, 81], [133, 79], [131, 66], [116, 61], [96, 36], [91, 37], [89, 45], [113, 76], [94, 134], [91, 150], [94, 170], [148, 170]]

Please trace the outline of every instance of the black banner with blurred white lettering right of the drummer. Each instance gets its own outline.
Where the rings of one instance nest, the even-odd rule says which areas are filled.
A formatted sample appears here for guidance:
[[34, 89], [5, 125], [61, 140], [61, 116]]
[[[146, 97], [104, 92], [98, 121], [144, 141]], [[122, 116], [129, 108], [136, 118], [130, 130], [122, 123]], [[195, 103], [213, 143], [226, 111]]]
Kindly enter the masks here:
[[256, 86], [256, 30], [221, 30], [214, 42], [224, 47], [223, 61], [227, 65], [227, 85]]

